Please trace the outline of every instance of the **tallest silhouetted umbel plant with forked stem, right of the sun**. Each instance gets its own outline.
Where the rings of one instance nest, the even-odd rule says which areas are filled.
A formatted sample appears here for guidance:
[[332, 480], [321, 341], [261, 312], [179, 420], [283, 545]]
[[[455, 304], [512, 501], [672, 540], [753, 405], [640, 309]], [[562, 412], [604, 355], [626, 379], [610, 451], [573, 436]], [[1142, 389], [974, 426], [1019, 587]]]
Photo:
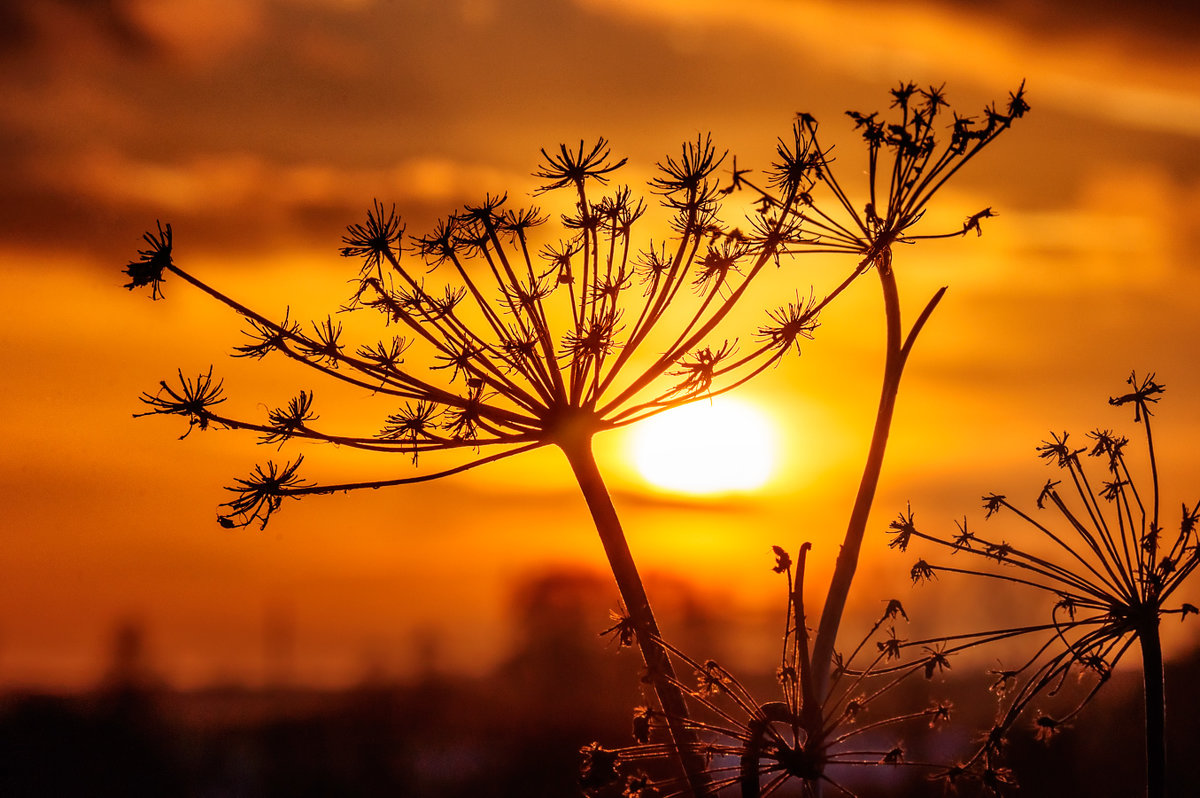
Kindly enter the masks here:
[[[1024, 83], [1009, 95], [1003, 109], [992, 104], [978, 118], [950, 112], [953, 118], [944, 127], [942, 122], [949, 109], [944, 88], [919, 89], [913, 83], [905, 83], [892, 90], [892, 108], [898, 114], [892, 120], [881, 119], [878, 113], [847, 112], [866, 144], [865, 202], [852, 199], [851, 192], [842, 186], [830, 150], [821, 145], [817, 122], [809, 114], [798, 114], [790, 140], [780, 139], [779, 161], [768, 173], [766, 188], [752, 184], [734, 164], [732, 187], [754, 191], [763, 208], [778, 209], [784, 218], [809, 233], [788, 241], [785, 252], [856, 254], [859, 260], [852, 277], [874, 268], [883, 294], [887, 336], [883, 383], [866, 463], [814, 640], [817, 695], [823, 695], [828, 686], [834, 642], [882, 472], [905, 362], [946, 292], [944, 287], [937, 290], [908, 331], [902, 332], [893, 247], [972, 230], [980, 233], [980, 221], [995, 215], [990, 208], [968, 216], [959, 230], [918, 234], [913, 228], [938, 190], [1030, 110]], [[942, 136], [944, 130], [949, 131], [948, 137]], [[823, 194], [832, 197], [828, 210], [820, 204]], [[858, 202], [863, 202], [862, 210]]]

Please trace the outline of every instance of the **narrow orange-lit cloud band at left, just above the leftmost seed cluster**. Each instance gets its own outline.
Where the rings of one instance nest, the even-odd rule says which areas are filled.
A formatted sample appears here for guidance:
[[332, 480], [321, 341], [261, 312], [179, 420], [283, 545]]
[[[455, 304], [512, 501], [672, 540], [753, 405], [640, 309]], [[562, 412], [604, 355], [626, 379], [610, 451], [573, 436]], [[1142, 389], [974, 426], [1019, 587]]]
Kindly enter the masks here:
[[438, 216], [485, 193], [528, 203], [528, 172], [440, 156], [386, 166], [287, 162], [251, 152], [138, 157], [116, 149], [29, 157], [0, 200], [8, 252], [37, 247], [127, 257], [155, 218], [188, 232], [202, 248], [329, 247], [361, 221], [372, 198], [395, 203], [421, 233]]

